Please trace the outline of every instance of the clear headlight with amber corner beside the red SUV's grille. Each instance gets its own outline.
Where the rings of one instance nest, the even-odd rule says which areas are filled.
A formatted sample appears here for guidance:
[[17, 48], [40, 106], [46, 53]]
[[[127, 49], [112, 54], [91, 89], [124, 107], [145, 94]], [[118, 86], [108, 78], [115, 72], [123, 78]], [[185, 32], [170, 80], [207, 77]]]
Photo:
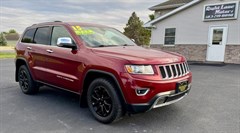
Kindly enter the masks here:
[[154, 74], [151, 65], [126, 65], [125, 67], [131, 74]]

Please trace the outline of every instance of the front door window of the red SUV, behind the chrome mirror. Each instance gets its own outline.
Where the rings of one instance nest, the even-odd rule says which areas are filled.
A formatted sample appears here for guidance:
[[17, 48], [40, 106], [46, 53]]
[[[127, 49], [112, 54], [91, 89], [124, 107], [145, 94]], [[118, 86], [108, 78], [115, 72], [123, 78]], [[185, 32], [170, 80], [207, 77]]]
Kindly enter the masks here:
[[[56, 46], [57, 45], [57, 39], [59, 37], [70, 37], [70, 38], [72, 38], [70, 36], [69, 32], [64, 27], [56, 26], [56, 27], [53, 28], [53, 31], [52, 31], [51, 45]], [[73, 39], [72, 39], [72, 42], [74, 43]]]

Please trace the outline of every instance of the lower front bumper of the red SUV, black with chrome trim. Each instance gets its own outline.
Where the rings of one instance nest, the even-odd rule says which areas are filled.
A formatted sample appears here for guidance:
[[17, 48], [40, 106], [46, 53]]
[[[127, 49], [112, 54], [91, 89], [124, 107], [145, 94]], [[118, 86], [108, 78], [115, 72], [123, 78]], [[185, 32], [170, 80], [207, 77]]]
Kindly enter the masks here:
[[153, 108], [158, 108], [166, 105], [173, 104], [183, 99], [190, 91], [191, 84], [188, 85], [188, 89], [183, 92], [175, 93], [175, 91], [167, 91], [157, 94], [148, 103], [144, 104], [127, 104], [127, 110], [131, 113], [146, 112]]

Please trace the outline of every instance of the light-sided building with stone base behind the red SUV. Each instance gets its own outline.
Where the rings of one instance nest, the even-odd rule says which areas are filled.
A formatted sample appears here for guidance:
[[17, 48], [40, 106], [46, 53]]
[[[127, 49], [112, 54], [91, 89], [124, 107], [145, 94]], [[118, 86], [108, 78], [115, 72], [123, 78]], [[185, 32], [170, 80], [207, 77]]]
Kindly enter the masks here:
[[191, 61], [240, 64], [240, 0], [169, 0], [149, 8], [151, 47]]

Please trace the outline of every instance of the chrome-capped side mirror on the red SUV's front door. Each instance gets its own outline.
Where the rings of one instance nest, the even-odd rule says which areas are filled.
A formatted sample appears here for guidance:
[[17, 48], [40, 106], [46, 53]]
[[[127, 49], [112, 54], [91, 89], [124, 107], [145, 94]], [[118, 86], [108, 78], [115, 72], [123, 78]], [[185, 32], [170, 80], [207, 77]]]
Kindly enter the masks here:
[[72, 43], [70, 37], [59, 37], [57, 40], [58, 47], [71, 48], [73, 50], [77, 49], [76, 45]]

